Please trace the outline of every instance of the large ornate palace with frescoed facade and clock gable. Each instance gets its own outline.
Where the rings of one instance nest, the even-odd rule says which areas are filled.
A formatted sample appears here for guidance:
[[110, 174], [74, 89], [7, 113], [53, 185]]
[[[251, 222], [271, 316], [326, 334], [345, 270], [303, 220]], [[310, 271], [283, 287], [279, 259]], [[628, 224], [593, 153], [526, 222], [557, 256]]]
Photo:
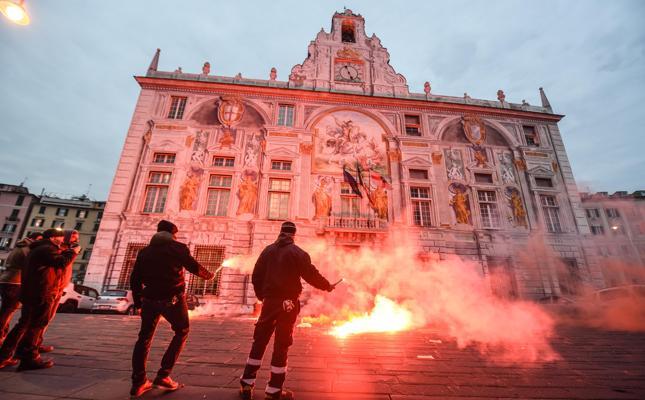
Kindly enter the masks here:
[[[386, 246], [481, 264], [500, 296], [540, 299], [604, 285], [555, 114], [541, 105], [409, 91], [351, 10], [332, 17], [286, 81], [160, 71], [145, 76], [85, 283], [127, 288], [136, 254], [170, 219], [215, 271], [273, 241]], [[313, 29], [312, 29], [313, 31]], [[409, 60], [412, 61], [412, 60]], [[349, 177], [351, 176], [351, 178]], [[188, 291], [222, 306], [252, 298], [224, 269]], [[252, 292], [251, 292], [252, 293]]]

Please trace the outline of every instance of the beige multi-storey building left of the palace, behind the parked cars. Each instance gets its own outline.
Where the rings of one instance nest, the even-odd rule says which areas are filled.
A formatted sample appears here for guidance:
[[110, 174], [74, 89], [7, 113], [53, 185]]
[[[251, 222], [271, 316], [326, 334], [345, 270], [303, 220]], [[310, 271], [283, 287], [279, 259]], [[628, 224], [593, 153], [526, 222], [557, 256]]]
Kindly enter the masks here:
[[83, 283], [104, 207], [104, 201], [93, 201], [87, 196], [69, 199], [40, 196], [33, 203], [25, 220], [25, 235], [49, 228], [76, 229], [80, 233], [83, 250], [74, 261], [72, 281]]

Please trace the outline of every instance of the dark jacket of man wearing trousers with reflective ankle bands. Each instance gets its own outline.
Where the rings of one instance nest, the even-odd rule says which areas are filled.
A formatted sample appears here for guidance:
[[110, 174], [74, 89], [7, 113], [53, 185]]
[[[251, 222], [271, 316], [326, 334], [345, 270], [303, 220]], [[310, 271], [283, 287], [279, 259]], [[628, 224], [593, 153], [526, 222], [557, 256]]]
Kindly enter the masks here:
[[253, 269], [253, 289], [258, 299], [297, 299], [302, 292], [300, 278], [320, 290], [331, 291], [331, 284], [311, 263], [306, 251], [289, 235], [280, 235], [258, 257]]

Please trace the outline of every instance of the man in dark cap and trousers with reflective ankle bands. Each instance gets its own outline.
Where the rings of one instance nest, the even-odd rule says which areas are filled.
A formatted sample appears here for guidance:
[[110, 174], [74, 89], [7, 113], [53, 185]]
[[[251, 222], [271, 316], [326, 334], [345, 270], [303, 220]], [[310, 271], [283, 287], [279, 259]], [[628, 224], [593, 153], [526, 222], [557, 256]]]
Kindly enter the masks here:
[[271, 380], [265, 390], [265, 399], [293, 399], [293, 393], [283, 390], [282, 386], [287, 372], [287, 353], [293, 343], [293, 327], [300, 312], [300, 279], [320, 290], [334, 290], [334, 286], [311, 263], [309, 254], [294, 244], [295, 233], [293, 222], [283, 223], [278, 239], [262, 251], [253, 269], [253, 289], [263, 304], [255, 324], [251, 352], [240, 379], [240, 397], [245, 400], [253, 398], [255, 378], [274, 331]]

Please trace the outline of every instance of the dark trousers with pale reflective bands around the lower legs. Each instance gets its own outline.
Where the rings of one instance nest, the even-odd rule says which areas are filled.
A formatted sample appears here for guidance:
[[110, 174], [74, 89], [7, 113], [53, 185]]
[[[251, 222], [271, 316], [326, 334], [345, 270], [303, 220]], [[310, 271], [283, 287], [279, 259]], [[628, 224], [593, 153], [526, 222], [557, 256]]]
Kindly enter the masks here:
[[264, 357], [267, 345], [275, 332], [273, 355], [271, 356], [271, 379], [267, 385], [267, 392], [273, 393], [282, 390], [287, 373], [287, 355], [289, 347], [293, 344], [293, 327], [299, 313], [300, 302], [298, 300], [264, 300], [262, 312], [255, 324], [253, 345], [244, 368], [242, 383], [255, 384], [262, 357]]

